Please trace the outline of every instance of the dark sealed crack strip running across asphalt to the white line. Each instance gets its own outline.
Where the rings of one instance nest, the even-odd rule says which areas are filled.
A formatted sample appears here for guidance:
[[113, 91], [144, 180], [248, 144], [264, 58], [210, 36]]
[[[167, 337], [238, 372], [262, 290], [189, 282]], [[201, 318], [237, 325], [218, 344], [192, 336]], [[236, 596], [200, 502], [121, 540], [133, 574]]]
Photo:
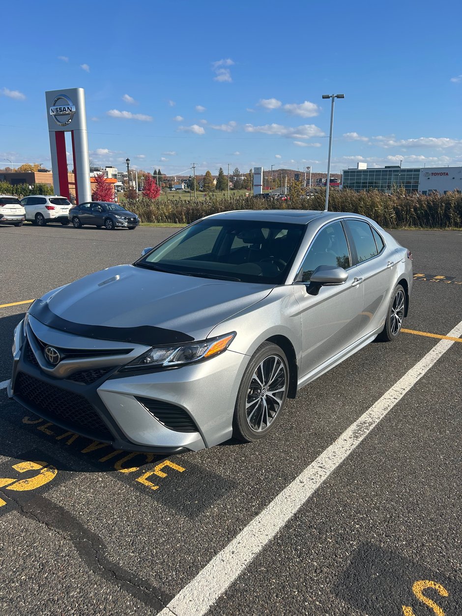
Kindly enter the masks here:
[[112, 563], [105, 555], [106, 546], [103, 541], [60, 505], [52, 503], [44, 496], [35, 496], [27, 503], [20, 503], [15, 498], [12, 500], [18, 506], [18, 513], [36, 520], [59, 537], [71, 541], [81, 559], [94, 573], [115, 583], [121, 590], [148, 607], [160, 611], [173, 598], [157, 586]]

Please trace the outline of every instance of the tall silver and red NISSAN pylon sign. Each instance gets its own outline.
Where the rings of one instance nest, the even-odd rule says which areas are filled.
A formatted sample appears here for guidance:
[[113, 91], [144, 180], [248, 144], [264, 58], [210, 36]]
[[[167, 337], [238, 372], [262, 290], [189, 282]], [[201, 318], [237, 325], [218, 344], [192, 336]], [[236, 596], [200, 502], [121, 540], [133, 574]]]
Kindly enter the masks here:
[[51, 168], [56, 195], [70, 197], [65, 133], [71, 133], [77, 203], [91, 201], [87, 118], [83, 87], [45, 92]]

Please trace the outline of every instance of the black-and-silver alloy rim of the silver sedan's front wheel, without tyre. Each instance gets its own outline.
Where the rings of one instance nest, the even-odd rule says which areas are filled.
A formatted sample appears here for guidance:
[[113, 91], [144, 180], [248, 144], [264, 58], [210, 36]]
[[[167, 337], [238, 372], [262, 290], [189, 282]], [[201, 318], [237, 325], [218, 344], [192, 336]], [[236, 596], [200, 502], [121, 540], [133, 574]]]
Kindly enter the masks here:
[[246, 396], [246, 419], [249, 428], [262, 432], [276, 419], [285, 399], [286, 367], [280, 357], [269, 355], [254, 371]]

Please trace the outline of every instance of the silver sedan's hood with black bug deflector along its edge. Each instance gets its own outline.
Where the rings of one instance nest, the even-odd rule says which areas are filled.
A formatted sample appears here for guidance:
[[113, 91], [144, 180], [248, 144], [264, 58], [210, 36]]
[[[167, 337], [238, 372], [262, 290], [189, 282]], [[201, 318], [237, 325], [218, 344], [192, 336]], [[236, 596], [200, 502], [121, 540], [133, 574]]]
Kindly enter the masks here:
[[94, 338], [169, 344], [206, 338], [218, 323], [271, 290], [270, 285], [118, 265], [51, 291], [34, 302], [30, 314], [46, 325]]

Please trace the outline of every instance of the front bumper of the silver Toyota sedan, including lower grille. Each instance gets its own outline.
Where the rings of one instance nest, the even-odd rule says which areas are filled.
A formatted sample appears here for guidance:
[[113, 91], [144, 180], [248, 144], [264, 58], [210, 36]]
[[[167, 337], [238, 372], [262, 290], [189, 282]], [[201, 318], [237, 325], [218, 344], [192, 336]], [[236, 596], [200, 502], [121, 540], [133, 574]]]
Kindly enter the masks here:
[[[63, 360], [52, 368], [38, 349], [34, 334], [60, 348], [67, 337], [79, 347], [88, 342], [93, 350], [108, 343], [52, 330], [33, 317], [28, 321], [15, 330], [8, 394], [36, 415], [129, 451], [197, 451], [232, 436], [235, 400], [248, 360], [245, 355], [227, 351], [195, 365], [146, 373], [121, 372], [120, 365], [128, 355], [124, 362], [119, 355], [117, 365], [112, 366], [101, 367], [108, 360], [99, 357], [93, 367], [87, 358], [84, 365], [81, 359], [74, 367], [73, 360]], [[91, 383], [75, 380], [76, 375], [84, 375], [86, 380], [88, 373]]]

